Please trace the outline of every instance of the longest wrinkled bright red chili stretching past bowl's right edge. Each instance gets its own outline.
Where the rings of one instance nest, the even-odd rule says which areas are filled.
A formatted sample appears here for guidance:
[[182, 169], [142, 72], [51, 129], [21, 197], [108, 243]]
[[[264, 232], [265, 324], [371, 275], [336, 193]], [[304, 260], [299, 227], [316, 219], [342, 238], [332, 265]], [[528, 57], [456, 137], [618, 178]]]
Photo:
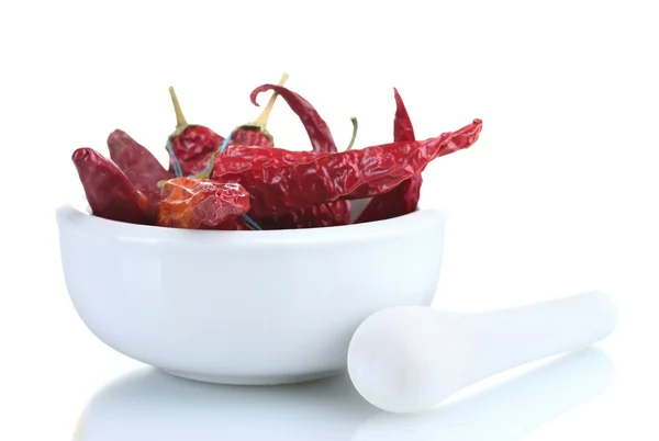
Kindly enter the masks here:
[[339, 199], [361, 199], [390, 191], [423, 171], [435, 158], [467, 148], [478, 140], [482, 122], [422, 142], [401, 142], [337, 154], [237, 147], [219, 156], [213, 180], [249, 189], [257, 216]]

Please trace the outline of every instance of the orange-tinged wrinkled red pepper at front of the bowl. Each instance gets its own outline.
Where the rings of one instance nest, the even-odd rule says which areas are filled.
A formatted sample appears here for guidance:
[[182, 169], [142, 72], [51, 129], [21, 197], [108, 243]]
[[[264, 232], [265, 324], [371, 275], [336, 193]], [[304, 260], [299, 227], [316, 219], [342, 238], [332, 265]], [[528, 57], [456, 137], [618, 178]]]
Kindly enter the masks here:
[[163, 186], [157, 224], [193, 229], [237, 229], [236, 217], [249, 211], [249, 193], [236, 183], [175, 178]]

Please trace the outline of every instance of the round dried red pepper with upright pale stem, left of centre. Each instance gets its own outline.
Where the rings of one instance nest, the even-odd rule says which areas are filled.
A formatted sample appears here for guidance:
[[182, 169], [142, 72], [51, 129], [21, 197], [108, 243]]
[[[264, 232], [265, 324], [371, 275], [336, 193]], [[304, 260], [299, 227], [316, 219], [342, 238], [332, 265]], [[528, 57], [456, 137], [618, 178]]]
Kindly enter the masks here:
[[201, 173], [224, 138], [203, 125], [188, 124], [174, 88], [169, 94], [176, 112], [176, 129], [167, 139], [169, 170], [178, 177]]

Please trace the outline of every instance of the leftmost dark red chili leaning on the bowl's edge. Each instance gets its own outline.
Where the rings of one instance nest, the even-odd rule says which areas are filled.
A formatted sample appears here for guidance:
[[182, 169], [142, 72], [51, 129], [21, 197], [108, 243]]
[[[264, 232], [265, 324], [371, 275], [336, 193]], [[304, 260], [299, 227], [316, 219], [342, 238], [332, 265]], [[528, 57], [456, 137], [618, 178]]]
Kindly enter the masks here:
[[131, 224], [149, 224], [148, 200], [114, 162], [91, 148], [79, 148], [71, 159], [93, 215]]

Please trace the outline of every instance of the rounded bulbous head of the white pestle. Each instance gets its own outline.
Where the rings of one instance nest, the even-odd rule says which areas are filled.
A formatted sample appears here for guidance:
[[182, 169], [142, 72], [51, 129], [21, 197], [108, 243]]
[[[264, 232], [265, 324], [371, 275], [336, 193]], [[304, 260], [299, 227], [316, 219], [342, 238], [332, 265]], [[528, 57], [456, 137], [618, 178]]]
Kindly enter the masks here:
[[462, 386], [469, 344], [458, 315], [396, 306], [369, 316], [348, 349], [348, 373], [370, 404], [391, 412], [435, 407]]

